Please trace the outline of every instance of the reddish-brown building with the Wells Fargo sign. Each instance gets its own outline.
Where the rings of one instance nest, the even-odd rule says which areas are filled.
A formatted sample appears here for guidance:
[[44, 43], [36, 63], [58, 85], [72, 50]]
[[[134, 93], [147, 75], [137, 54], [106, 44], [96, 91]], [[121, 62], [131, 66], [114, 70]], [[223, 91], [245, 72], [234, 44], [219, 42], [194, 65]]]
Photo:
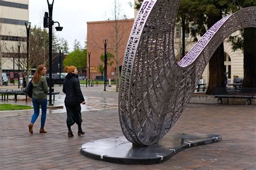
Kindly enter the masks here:
[[[117, 64], [122, 67], [123, 55], [127, 40], [133, 25], [133, 19], [107, 20], [99, 22], [87, 22], [87, 52], [90, 52], [90, 79], [103, 80], [104, 74], [100, 73], [100, 65], [104, 67], [104, 61], [100, 55], [104, 55], [104, 42], [107, 40], [107, 53], [114, 58], [108, 61], [107, 79], [116, 80]], [[116, 56], [118, 55], [118, 58]], [[89, 55], [87, 55], [87, 79], [89, 79]], [[120, 69], [119, 69], [120, 72]]]

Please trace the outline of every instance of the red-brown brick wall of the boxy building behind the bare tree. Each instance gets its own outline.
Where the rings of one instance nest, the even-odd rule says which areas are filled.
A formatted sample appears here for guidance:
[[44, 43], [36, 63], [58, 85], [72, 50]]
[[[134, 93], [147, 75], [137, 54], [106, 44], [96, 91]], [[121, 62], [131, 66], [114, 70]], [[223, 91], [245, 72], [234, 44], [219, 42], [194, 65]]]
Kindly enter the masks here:
[[[107, 52], [110, 52], [116, 56], [114, 52], [114, 20], [101, 21], [101, 22], [87, 22], [87, 52], [91, 52], [90, 55], [90, 67], [98, 67], [100, 64], [104, 66], [104, 62], [100, 60], [100, 55], [104, 54], [104, 43], [103, 39], [108, 39], [107, 42]], [[123, 55], [125, 52], [127, 40], [130, 36], [131, 28], [133, 25], [133, 19], [119, 20], [119, 35], [122, 35], [119, 45], [119, 66], [123, 64]], [[120, 36], [119, 36], [120, 37]], [[114, 61], [114, 60], [113, 60]], [[89, 58], [87, 55], [87, 67], [89, 66]], [[87, 69], [89, 70], [89, 69]], [[100, 73], [93, 73], [91, 69], [90, 78], [95, 79], [96, 76], [100, 76]], [[113, 75], [114, 74], [114, 75]], [[112, 66], [107, 66], [107, 79], [111, 78], [114, 80], [116, 76], [116, 61]], [[89, 72], [87, 72], [87, 77], [89, 78]]]

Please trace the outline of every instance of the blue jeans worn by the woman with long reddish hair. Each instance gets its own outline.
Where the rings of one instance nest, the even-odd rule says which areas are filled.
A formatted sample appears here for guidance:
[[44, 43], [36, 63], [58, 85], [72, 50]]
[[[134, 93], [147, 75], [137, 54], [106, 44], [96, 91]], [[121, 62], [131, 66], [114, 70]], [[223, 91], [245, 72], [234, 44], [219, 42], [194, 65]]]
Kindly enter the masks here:
[[31, 123], [36, 122], [37, 117], [39, 116], [39, 109], [41, 106], [42, 115], [41, 115], [41, 128], [44, 129], [45, 119], [46, 119], [46, 110], [47, 110], [47, 99], [35, 99], [32, 98], [34, 114], [31, 118]]

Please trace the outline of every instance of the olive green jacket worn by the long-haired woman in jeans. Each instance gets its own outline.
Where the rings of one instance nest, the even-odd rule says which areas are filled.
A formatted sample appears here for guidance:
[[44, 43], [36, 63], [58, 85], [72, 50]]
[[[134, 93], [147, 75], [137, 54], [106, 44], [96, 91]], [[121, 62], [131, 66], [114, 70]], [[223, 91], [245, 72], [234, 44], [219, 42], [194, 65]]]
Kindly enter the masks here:
[[49, 91], [49, 88], [47, 86], [46, 77], [42, 75], [41, 79], [37, 83], [34, 83], [32, 80], [32, 84], [32, 98], [47, 99], [47, 93]]

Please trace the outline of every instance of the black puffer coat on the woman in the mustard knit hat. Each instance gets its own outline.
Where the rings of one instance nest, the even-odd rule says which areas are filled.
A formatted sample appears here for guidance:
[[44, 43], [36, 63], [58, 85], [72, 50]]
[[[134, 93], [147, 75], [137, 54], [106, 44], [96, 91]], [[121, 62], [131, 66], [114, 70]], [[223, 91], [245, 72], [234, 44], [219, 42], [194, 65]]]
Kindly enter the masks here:
[[65, 104], [67, 105], [80, 104], [84, 101], [84, 96], [80, 89], [80, 83], [76, 74], [68, 73], [68, 75], [66, 75], [62, 91], [66, 94]]

